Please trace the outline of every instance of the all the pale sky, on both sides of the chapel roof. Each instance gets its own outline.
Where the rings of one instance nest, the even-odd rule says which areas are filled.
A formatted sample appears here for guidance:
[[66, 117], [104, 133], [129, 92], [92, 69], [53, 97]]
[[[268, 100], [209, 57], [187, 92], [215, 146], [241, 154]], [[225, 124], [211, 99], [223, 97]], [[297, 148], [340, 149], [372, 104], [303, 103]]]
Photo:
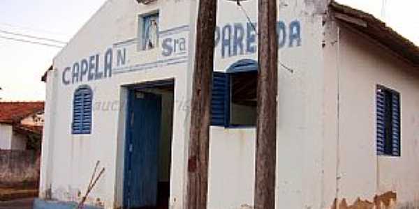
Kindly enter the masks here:
[[[129, 0], [119, 0], [129, 1]], [[6, 38], [1, 31], [68, 42], [105, 0], [0, 0], [0, 98], [2, 101], [45, 100], [41, 76], [60, 48]], [[372, 13], [419, 45], [419, 1], [338, 0]], [[383, 12], [385, 2], [385, 12]], [[42, 41], [46, 42], [46, 41]], [[62, 45], [49, 42], [53, 45]]]

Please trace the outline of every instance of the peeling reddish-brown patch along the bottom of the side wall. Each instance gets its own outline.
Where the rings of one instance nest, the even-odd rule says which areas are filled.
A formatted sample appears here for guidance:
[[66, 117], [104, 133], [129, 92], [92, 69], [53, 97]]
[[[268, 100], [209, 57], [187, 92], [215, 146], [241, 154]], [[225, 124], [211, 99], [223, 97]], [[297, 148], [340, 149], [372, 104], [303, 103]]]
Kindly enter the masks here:
[[332, 209], [391, 209], [395, 208], [397, 202], [397, 194], [395, 192], [385, 192], [381, 195], [376, 195], [374, 201], [362, 200], [360, 198], [352, 205], [348, 205], [346, 199], [342, 199], [338, 205], [338, 200], [335, 199]]

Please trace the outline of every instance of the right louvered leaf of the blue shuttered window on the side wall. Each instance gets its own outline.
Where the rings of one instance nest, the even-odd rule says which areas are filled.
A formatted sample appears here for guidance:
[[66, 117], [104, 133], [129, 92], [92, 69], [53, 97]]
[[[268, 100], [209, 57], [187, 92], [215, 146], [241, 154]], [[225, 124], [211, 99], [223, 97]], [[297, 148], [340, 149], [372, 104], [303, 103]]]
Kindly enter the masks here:
[[391, 94], [392, 102], [392, 155], [400, 155], [400, 100], [399, 93], [392, 92]]

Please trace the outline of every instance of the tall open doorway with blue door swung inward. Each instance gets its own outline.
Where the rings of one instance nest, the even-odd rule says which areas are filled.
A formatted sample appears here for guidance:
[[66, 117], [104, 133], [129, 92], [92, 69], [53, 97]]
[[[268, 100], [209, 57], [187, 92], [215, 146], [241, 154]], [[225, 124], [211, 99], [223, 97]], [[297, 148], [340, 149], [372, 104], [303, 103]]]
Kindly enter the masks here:
[[128, 88], [124, 208], [168, 209], [174, 81]]

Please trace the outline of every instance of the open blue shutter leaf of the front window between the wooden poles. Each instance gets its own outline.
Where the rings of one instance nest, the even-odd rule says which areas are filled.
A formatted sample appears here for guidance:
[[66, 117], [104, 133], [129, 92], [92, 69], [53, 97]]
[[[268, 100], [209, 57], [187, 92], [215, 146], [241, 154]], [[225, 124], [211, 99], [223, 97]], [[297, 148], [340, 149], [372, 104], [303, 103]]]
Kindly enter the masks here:
[[211, 125], [228, 126], [230, 121], [230, 78], [224, 72], [212, 77]]

